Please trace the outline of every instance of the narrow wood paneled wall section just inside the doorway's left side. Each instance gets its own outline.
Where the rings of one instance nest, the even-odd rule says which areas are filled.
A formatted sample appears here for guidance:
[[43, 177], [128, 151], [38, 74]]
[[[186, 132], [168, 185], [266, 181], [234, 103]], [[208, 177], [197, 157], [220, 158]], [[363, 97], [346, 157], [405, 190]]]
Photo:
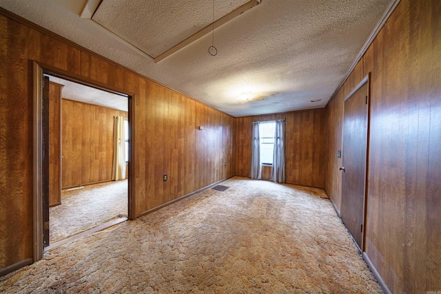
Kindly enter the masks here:
[[49, 83], [49, 205], [61, 204], [61, 90]]

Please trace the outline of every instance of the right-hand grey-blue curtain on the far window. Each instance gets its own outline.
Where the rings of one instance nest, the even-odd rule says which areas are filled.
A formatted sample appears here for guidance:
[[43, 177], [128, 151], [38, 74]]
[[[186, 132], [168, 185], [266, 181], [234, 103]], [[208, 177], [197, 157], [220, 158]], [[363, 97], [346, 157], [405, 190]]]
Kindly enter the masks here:
[[271, 180], [285, 182], [285, 118], [276, 120]]

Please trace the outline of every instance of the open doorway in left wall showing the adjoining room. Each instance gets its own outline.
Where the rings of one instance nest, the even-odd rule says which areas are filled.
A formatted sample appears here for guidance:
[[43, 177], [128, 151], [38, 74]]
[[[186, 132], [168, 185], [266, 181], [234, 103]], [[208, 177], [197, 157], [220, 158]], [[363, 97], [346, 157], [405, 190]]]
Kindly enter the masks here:
[[132, 219], [132, 96], [34, 63], [34, 103], [37, 261], [45, 250]]

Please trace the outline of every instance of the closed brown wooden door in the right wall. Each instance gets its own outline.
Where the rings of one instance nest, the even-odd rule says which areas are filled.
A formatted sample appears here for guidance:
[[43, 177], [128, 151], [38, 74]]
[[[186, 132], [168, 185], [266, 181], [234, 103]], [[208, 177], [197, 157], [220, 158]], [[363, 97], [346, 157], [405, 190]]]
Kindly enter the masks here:
[[[366, 80], [366, 81], [365, 81]], [[368, 83], [360, 83], [345, 99], [343, 120], [342, 204], [340, 216], [363, 249], [368, 135]]]

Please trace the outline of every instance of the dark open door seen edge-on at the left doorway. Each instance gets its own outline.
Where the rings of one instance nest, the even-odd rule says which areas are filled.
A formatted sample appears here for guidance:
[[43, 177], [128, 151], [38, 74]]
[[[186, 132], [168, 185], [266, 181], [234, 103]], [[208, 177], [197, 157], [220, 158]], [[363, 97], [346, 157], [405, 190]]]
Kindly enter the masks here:
[[41, 105], [41, 131], [42, 140], [42, 173], [41, 194], [43, 216], [43, 247], [49, 246], [49, 77], [44, 76], [43, 99]]

